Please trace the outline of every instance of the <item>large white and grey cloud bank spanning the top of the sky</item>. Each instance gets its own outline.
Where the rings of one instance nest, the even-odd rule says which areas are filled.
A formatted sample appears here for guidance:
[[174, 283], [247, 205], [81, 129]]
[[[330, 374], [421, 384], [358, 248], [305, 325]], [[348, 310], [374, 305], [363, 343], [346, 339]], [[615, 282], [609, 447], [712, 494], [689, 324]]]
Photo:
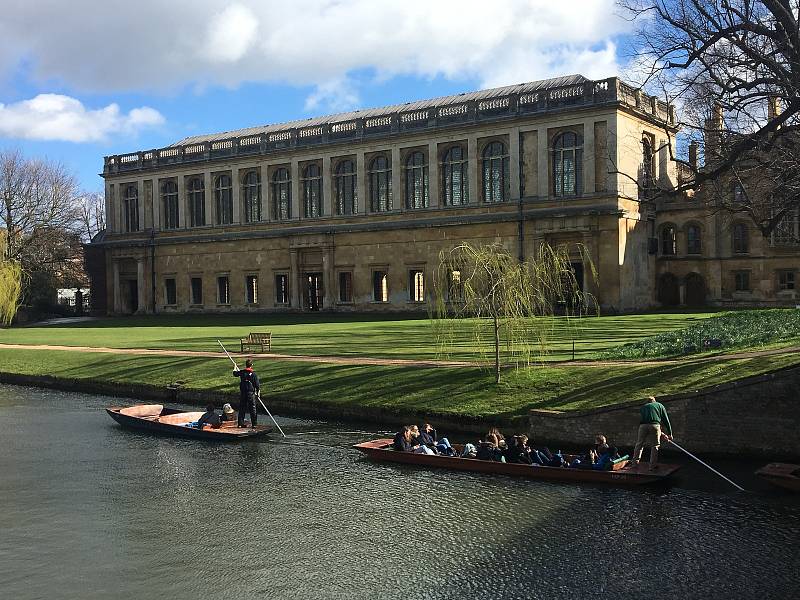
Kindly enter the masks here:
[[485, 85], [614, 75], [610, 42], [629, 27], [615, 0], [37, 0], [4, 8], [0, 69], [80, 91], [319, 85], [317, 107], [365, 70]]

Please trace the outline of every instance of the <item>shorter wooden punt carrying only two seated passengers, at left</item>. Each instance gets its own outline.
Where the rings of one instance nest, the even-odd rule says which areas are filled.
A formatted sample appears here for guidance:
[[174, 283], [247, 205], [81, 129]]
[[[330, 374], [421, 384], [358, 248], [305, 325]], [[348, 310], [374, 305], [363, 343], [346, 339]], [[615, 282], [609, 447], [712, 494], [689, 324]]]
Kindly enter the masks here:
[[203, 415], [203, 411], [186, 412], [175, 408], [164, 408], [162, 404], [111, 406], [106, 412], [123, 427], [201, 440], [241, 440], [261, 437], [272, 430], [266, 425], [257, 425], [255, 428], [238, 427], [235, 421], [223, 421], [219, 429], [187, 427], [186, 423], [197, 421]]

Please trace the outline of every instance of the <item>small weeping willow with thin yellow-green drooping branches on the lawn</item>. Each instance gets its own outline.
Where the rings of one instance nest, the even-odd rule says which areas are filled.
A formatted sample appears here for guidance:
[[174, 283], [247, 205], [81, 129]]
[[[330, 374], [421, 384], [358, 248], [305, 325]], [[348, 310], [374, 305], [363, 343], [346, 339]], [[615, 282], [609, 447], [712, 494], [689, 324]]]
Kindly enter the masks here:
[[495, 383], [500, 383], [501, 354], [528, 366], [548, 350], [554, 315], [579, 317], [596, 310], [583, 292], [573, 263], [582, 262], [597, 279], [594, 263], [582, 245], [539, 246], [520, 261], [499, 245], [463, 243], [439, 255], [433, 282], [432, 323], [445, 353], [471, 333], [483, 356], [493, 352]]

